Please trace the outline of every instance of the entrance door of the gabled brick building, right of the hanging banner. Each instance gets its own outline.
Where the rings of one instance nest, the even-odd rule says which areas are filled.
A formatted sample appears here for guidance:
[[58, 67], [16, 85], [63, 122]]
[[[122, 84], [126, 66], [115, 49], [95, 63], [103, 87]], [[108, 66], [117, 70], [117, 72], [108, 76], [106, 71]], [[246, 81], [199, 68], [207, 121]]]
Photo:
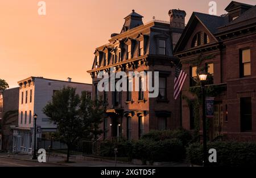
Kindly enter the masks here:
[[214, 104], [213, 120], [213, 139], [222, 135], [223, 128], [223, 105], [222, 103]]

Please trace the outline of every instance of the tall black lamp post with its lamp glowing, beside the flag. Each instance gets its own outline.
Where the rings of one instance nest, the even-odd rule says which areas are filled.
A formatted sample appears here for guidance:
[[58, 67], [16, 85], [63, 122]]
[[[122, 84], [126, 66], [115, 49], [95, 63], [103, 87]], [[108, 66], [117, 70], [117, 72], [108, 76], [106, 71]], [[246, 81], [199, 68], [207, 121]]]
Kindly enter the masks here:
[[203, 147], [204, 147], [204, 167], [207, 165], [207, 128], [206, 128], [206, 117], [205, 117], [205, 81], [207, 80], [207, 74], [199, 74], [202, 91], [202, 110], [203, 110]]

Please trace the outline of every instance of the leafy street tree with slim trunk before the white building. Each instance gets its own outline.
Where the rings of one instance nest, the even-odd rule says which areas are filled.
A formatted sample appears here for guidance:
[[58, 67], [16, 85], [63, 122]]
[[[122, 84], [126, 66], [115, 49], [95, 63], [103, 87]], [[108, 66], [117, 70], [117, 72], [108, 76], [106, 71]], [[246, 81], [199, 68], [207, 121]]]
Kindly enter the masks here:
[[60, 141], [67, 144], [67, 162], [69, 162], [70, 150], [75, 141], [84, 132], [84, 123], [80, 117], [80, 97], [76, 89], [64, 87], [55, 92], [52, 101], [44, 107], [44, 114], [57, 125]]

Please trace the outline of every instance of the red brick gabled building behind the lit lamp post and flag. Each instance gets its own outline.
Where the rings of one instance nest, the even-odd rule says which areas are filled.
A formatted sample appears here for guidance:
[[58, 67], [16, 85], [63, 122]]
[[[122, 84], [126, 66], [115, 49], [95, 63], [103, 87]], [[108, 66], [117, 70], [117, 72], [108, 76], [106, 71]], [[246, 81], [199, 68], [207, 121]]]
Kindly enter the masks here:
[[[198, 67], [208, 70], [208, 84], [222, 88], [214, 99], [210, 139], [256, 141], [256, 6], [232, 1], [227, 14], [214, 16], [193, 12], [175, 48], [183, 70], [197, 78]], [[195, 65], [195, 61], [200, 61]], [[188, 78], [183, 95], [196, 87]], [[187, 99], [182, 101], [183, 127], [195, 129], [195, 111]], [[201, 111], [200, 111], [201, 113]], [[201, 117], [200, 117], [201, 118]]]

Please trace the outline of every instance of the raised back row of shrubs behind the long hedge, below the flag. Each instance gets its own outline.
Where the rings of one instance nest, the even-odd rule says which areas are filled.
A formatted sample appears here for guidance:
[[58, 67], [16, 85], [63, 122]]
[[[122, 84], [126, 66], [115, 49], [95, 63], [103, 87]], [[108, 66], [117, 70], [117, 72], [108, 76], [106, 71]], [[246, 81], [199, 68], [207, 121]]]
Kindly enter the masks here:
[[187, 145], [192, 139], [192, 135], [185, 129], [178, 130], [152, 130], [144, 134], [142, 139], [152, 139], [153, 141], [164, 141], [166, 139], [179, 139], [183, 146]]

